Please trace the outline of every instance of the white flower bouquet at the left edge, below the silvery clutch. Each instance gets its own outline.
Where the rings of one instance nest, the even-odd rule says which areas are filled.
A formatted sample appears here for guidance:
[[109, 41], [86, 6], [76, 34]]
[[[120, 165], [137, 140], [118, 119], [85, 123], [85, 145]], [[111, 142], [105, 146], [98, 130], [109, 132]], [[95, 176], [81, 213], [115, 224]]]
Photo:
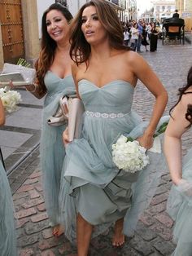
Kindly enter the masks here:
[[15, 90], [9, 90], [8, 86], [0, 88], [0, 98], [7, 113], [14, 112], [17, 108], [16, 105], [21, 102], [20, 93]]

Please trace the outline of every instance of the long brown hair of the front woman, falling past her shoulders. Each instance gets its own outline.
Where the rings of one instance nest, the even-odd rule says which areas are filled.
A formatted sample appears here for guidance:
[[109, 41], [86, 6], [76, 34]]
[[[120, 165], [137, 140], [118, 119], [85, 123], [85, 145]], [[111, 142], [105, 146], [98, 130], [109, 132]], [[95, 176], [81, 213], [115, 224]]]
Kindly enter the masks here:
[[85, 40], [84, 34], [81, 31], [81, 16], [86, 7], [96, 8], [98, 20], [107, 31], [109, 45], [111, 48], [116, 50], [129, 50], [128, 46], [123, 45], [123, 29], [114, 7], [111, 6], [111, 3], [103, 0], [91, 0], [81, 7], [74, 20], [72, 20], [70, 36], [70, 56], [72, 60], [75, 61], [77, 65], [89, 60], [90, 45]]

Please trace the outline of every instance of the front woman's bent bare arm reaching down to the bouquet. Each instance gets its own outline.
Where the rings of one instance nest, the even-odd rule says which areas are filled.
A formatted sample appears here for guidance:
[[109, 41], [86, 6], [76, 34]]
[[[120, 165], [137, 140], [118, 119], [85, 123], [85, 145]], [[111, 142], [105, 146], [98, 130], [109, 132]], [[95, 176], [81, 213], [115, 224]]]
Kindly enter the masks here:
[[151, 91], [152, 95], [155, 96], [155, 104], [149, 125], [142, 137], [138, 139], [143, 147], [151, 148], [156, 126], [164, 113], [164, 108], [168, 101], [168, 94], [162, 83], [159, 81], [159, 78], [155, 75], [142, 56], [136, 55], [132, 60], [131, 67], [133, 68], [135, 77], [138, 78], [146, 88]]

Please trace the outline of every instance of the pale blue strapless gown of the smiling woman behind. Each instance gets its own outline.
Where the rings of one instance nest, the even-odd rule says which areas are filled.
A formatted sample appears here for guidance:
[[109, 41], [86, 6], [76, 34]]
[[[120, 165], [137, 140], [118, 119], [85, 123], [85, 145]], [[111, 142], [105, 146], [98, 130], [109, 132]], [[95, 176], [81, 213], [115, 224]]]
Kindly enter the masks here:
[[46, 73], [44, 81], [47, 94], [42, 113], [41, 170], [43, 174], [46, 210], [50, 218], [50, 224], [54, 226], [59, 223], [58, 198], [60, 176], [65, 156], [62, 134], [67, 124], [50, 126], [47, 120], [56, 113], [59, 107], [59, 99], [63, 95], [75, 94], [75, 84], [71, 75], [62, 79], [51, 71]]

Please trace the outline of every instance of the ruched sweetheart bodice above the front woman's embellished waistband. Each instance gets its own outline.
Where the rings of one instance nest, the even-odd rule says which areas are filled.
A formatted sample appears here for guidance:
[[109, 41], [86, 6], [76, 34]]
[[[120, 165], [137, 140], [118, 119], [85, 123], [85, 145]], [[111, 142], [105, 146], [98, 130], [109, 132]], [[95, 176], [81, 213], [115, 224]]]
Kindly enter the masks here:
[[129, 113], [133, 102], [133, 86], [123, 80], [108, 82], [99, 88], [86, 79], [79, 83], [85, 110], [99, 113]]

